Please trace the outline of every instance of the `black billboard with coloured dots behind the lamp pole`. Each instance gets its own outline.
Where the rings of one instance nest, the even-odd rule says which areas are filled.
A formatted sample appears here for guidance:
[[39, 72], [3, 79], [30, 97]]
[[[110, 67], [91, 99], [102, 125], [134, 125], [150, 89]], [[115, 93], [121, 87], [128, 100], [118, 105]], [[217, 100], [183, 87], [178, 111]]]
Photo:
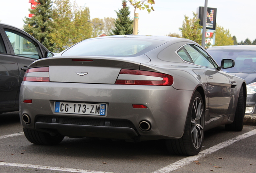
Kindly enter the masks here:
[[[204, 7], [198, 7], [197, 8], [197, 14], [198, 18], [200, 19], [200, 25], [203, 25], [204, 21]], [[216, 28], [216, 14], [217, 14], [217, 8], [207, 8], [207, 14], [206, 14], [206, 29], [215, 30]]]

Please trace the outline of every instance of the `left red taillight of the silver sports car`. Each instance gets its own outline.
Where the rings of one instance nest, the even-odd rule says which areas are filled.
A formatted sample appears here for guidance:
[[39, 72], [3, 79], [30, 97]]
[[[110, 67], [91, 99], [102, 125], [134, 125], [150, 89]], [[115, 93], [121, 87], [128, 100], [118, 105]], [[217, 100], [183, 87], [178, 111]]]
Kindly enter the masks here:
[[27, 69], [23, 81], [50, 82], [49, 67], [37, 67]]

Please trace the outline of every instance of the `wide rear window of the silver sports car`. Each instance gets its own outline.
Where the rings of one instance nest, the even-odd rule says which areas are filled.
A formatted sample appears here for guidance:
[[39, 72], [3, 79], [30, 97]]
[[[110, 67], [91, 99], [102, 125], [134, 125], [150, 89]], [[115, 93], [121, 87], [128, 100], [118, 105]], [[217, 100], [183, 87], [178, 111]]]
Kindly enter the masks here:
[[162, 40], [129, 37], [89, 39], [72, 46], [62, 55], [134, 57], [145, 54], [165, 42]]

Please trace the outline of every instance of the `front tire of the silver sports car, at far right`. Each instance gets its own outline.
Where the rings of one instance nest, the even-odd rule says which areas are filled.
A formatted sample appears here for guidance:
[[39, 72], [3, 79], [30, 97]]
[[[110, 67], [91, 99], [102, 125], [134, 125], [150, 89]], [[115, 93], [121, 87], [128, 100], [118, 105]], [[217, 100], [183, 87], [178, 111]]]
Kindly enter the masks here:
[[244, 89], [242, 86], [239, 92], [234, 121], [231, 124], [225, 125], [225, 129], [227, 131], [242, 131], [244, 126], [244, 114]]

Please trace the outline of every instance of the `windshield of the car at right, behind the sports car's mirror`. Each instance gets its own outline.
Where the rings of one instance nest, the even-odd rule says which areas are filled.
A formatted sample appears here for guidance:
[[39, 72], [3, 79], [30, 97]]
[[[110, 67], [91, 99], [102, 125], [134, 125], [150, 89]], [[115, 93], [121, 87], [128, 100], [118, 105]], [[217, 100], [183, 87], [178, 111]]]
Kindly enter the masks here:
[[225, 72], [256, 73], [256, 50], [207, 50], [220, 65], [222, 59], [235, 60], [235, 66]]

